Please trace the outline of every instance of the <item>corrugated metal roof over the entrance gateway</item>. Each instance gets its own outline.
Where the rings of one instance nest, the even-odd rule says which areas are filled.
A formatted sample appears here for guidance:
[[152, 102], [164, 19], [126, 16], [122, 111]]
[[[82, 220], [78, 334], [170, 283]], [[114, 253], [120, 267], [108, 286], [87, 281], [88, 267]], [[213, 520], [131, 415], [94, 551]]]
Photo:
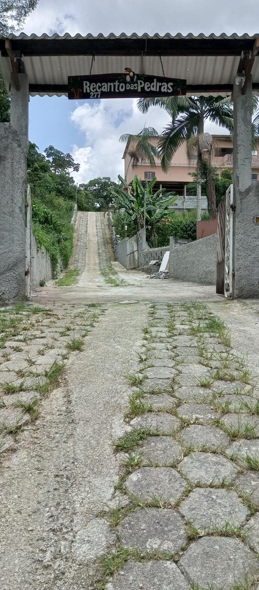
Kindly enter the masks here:
[[[54, 35], [47, 35], [43, 34], [41, 37], [38, 37], [35, 34], [32, 35], [25, 35], [24, 33], [16, 35], [9, 35], [9, 40], [13, 41], [15, 44], [15, 49], [19, 46], [19, 41], [22, 42], [22, 48], [24, 51], [24, 64], [26, 73], [29, 76], [29, 83], [30, 84], [37, 84], [37, 85], [44, 85], [44, 86], [51, 86], [51, 85], [61, 85], [66, 86], [68, 83], [68, 76], [79, 76], [84, 74], [89, 74], [92, 55], [89, 53], [89, 48], [91, 48], [91, 41], [95, 43], [95, 48], [98, 47], [97, 41], [118, 41], [119, 40], [146, 40], [147, 47], [148, 47], [148, 40], [152, 40], [153, 47], [155, 40], [185, 40], [190, 41], [190, 44], [193, 46], [195, 42], [200, 41], [199, 47], [202, 47], [202, 40], [204, 43], [213, 42], [213, 41], [222, 41], [223, 44], [226, 44], [228, 41], [237, 41], [237, 48], [240, 47], [240, 41], [250, 42], [249, 47], [253, 47], [253, 41], [255, 38], [259, 37], [259, 33], [251, 36], [248, 34], [244, 35], [237, 35], [234, 33], [233, 35], [227, 35], [225, 33], [221, 35], [192, 35], [191, 33], [188, 35], [181, 35], [181, 33], [177, 33], [176, 35], [171, 35], [167, 33], [165, 35], [159, 35], [156, 33], [155, 35], [148, 35], [147, 33], [143, 35], [137, 35], [137, 33], [132, 33], [131, 35], [126, 35], [125, 33], [121, 33], [120, 35], [114, 35], [113, 33], [107, 35], [96, 35], [95, 37], [91, 34], [82, 36], [82, 35], [75, 35], [71, 37], [68, 33], [64, 35], [58, 35], [57, 33]], [[2, 40], [2, 41], [1, 41]], [[4, 36], [0, 36], [0, 43], [2, 42], [1, 47], [3, 48], [3, 40]], [[41, 50], [41, 43], [42, 41], [48, 41], [49, 46], [51, 47], [51, 42], [57, 41], [58, 45], [60, 46], [60, 55], [57, 55], [57, 51], [55, 55], [44, 55], [44, 51]], [[64, 42], [69, 42], [69, 48], [71, 48], [76, 42], [78, 41], [89, 41], [90, 44], [87, 44], [88, 51], [84, 55], [64, 55], [62, 51], [65, 48]], [[33, 42], [33, 45], [32, 45]], [[252, 42], [252, 45], [251, 45]], [[26, 55], [25, 48], [31, 43], [31, 47], [36, 47], [38, 45], [39, 51], [38, 55]], [[84, 45], [84, 44], [83, 44]], [[191, 46], [190, 45], [190, 46]], [[114, 44], [116, 47], [117, 44]], [[123, 53], [125, 44], [119, 45], [121, 51]], [[167, 45], [167, 47], [170, 45]], [[235, 43], [231, 44], [233, 48]], [[45, 44], [46, 47], [46, 44]], [[105, 73], [121, 73], [124, 71], [125, 67], [131, 67], [137, 73], [141, 72], [141, 55], [142, 52], [138, 55], [132, 55], [132, 53], [125, 55], [119, 54], [105, 54], [105, 50], [102, 51], [104, 54], [99, 55], [98, 50], [95, 50], [95, 61], [92, 67], [92, 74], [105, 74]], [[196, 45], [195, 45], [196, 47]], [[205, 47], [205, 46], [204, 46]], [[217, 47], [221, 47], [221, 44], [217, 44]], [[224, 45], [225, 47], [225, 45]], [[70, 50], [71, 51], [71, 50]], [[162, 55], [162, 63], [164, 65], [165, 76], [172, 77], [172, 78], [186, 78], [188, 86], [194, 87], [194, 89], [189, 94], [195, 93], [195, 86], [227, 86], [233, 84], [233, 80], [235, 75], [237, 74], [238, 64], [240, 61], [240, 54], [241, 50], [238, 53], [238, 50], [235, 55], [232, 54], [228, 55], [227, 48], [224, 50], [225, 54], [221, 55]], [[153, 49], [154, 52], [154, 49]], [[35, 52], [37, 53], [37, 52]], [[42, 54], [43, 53], [43, 54]], [[46, 53], [46, 51], [45, 51]], [[147, 51], [148, 53], [148, 51]], [[190, 51], [190, 53], [192, 53]], [[202, 51], [201, 51], [202, 53]], [[207, 52], [208, 53], [208, 52]], [[11, 78], [11, 63], [8, 57], [4, 57], [4, 55], [0, 55], [0, 70], [5, 80], [6, 87], [9, 87], [9, 82]], [[154, 76], [162, 76], [161, 70], [161, 62], [159, 55], [145, 55], [144, 53], [144, 72], [147, 74], [152, 74]], [[255, 58], [255, 63], [253, 67], [253, 81], [258, 83], [259, 88], [259, 58]], [[220, 92], [220, 94], [229, 94], [230, 90]], [[57, 92], [51, 91], [36, 91], [31, 92], [32, 95], [40, 94], [44, 96], [44, 94], [48, 94], [48, 96], [52, 96], [53, 94], [57, 94], [61, 96], [62, 94], [66, 94], [64, 89]], [[219, 91], [202, 91], [197, 92], [195, 94], [219, 94]]]

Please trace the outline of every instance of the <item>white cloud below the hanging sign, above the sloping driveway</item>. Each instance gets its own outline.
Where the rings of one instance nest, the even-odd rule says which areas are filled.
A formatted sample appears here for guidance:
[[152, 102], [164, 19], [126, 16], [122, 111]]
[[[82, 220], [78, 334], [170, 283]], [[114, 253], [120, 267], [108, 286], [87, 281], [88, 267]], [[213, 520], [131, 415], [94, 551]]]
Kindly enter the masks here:
[[86, 146], [74, 146], [72, 155], [81, 167], [74, 173], [76, 182], [88, 182], [96, 176], [110, 176], [117, 180], [124, 173], [122, 154], [124, 145], [119, 143], [122, 133], [138, 133], [144, 124], [161, 132], [168, 122], [168, 114], [160, 109], [150, 109], [147, 115], [140, 113], [137, 100], [106, 99], [77, 106], [71, 120], [85, 133]]

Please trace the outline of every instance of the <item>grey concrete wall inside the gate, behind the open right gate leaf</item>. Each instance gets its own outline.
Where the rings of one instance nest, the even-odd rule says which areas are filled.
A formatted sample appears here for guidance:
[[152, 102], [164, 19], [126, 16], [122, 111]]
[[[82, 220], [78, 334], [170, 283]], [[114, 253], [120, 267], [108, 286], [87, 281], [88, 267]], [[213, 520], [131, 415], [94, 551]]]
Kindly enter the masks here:
[[170, 278], [188, 283], [216, 283], [217, 235], [170, 248]]

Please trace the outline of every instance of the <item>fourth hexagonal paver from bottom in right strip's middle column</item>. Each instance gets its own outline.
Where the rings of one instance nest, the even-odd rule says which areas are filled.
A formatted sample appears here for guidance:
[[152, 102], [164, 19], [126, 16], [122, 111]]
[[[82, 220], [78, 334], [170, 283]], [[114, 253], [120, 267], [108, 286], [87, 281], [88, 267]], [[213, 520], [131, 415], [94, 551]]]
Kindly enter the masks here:
[[222, 450], [229, 444], [227, 434], [217, 426], [191, 424], [191, 426], [184, 428], [179, 436], [185, 445], [193, 445], [197, 451], [200, 451], [204, 445], [212, 450]]

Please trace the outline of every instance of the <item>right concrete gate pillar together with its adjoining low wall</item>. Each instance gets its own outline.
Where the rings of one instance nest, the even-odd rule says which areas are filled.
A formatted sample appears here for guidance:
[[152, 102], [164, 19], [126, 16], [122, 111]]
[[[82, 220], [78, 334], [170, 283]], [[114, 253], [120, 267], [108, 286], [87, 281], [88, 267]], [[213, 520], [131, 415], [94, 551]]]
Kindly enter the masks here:
[[259, 297], [259, 187], [252, 186], [252, 80], [245, 94], [234, 82], [233, 296]]

